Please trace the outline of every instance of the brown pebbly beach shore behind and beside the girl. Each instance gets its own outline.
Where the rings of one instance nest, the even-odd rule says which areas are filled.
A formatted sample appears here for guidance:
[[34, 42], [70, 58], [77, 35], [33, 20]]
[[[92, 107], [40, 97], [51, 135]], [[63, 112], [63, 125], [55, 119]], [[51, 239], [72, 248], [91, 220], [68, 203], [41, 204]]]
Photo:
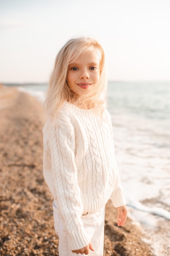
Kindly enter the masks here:
[[[52, 196], [42, 171], [42, 104], [2, 86], [0, 124], [0, 255], [58, 255]], [[117, 226], [110, 201], [105, 214], [104, 256], [154, 255], [131, 219]]]

